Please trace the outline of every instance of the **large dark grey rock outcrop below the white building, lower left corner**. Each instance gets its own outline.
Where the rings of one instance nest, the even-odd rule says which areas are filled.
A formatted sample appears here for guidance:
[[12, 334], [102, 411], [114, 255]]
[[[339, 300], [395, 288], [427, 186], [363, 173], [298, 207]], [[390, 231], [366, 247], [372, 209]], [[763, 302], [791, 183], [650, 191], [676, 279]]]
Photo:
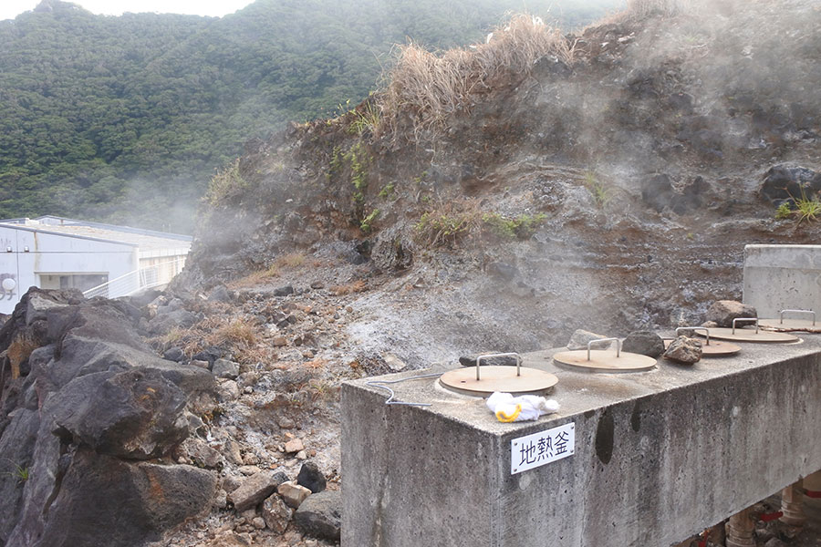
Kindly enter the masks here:
[[216, 474], [169, 456], [213, 376], [156, 356], [139, 315], [32, 289], [0, 330], [0, 544], [144, 545], [211, 508]]

